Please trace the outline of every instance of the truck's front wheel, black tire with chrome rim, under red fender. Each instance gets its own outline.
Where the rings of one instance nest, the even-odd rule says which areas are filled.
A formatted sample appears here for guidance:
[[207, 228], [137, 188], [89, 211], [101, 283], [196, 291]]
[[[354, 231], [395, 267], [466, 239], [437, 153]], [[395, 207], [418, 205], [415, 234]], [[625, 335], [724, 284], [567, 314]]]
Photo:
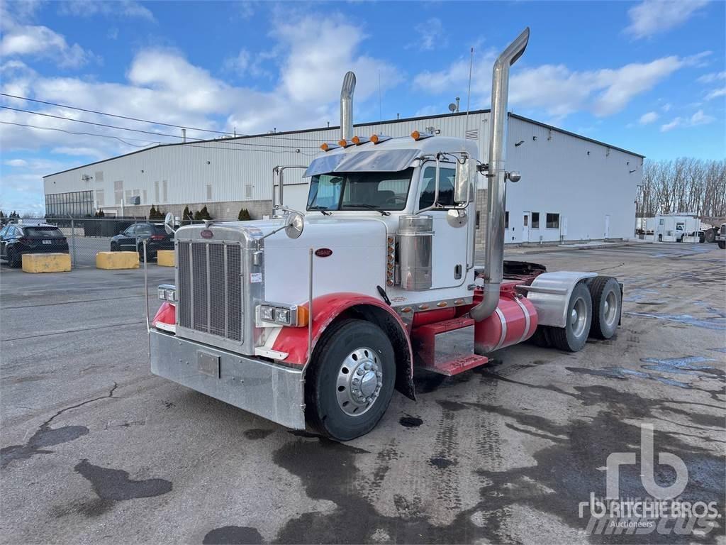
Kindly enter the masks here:
[[[356, 379], [365, 380], [367, 391]], [[378, 424], [393, 395], [396, 360], [391, 341], [370, 322], [342, 320], [320, 340], [305, 382], [311, 427], [339, 441], [365, 435]], [[361, 401], [357, 393], [372, 401]]]

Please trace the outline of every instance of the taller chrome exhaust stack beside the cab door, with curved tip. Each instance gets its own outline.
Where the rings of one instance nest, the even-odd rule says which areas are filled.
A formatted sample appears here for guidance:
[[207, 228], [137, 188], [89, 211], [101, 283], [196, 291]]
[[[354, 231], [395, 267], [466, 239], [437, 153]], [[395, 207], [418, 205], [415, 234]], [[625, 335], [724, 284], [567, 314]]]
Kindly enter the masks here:
[[489, 113], [489, 215], [486, 221], [486, 253], [484, 260], [484, 299], [470, 310], [477, 322], [488, 318], [497, 309], [499, 288], [504, 273], [504, 220], [507, 205], [505, 157], [507, 145], [507, 102], [509, 100], [509, 68], [522, 56], [529, 41], [529, 27], [509, 44], [494, 62], [492, 69], [492, 110]]

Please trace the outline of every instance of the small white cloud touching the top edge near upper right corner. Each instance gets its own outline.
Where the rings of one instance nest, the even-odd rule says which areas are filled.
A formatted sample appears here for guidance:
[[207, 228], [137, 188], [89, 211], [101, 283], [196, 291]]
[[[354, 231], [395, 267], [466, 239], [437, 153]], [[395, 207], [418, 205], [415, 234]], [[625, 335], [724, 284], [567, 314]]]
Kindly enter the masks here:
[[707, 0], [644, 0], [628, 10], [625, 32], [634, 39], [669, 31], [684, 24]]

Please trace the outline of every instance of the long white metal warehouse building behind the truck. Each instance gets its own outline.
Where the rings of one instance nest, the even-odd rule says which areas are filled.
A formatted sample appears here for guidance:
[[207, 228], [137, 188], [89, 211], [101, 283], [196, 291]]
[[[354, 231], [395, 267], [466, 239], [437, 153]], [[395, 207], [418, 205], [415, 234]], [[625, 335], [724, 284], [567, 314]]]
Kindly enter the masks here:
[[[360, 136], [408, 137], [414, 130], [476, 140], [480, 160], [489, 147], [489, 110], [355, 125]], [[307, 165], [322, 142], [337, 141], [338, 127], [158, 145], [44, 177], [46, 214], [83, 217], [145, 215], [152, 204], [181, 216], [207, 206], [216, 219], [269, 214], [272, 169]], [[635, 230], [635, 196], [643, 156], [613, 145], [510, 114], [507, 169], [507, 243], [629, 238]], [[307, 179], [285, 171], [284, 201], [304, 209]], [[480, 177], [477, 241], [484, 236], [486, 182]], [[139, 206], [129, 206], [139, 197]]]

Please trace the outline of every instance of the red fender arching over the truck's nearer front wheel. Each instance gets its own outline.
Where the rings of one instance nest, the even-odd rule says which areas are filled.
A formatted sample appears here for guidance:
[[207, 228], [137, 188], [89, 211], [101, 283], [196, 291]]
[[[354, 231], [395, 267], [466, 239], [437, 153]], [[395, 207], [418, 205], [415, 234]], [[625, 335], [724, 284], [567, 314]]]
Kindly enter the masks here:
[[[401, 317], [396, 314], [391, 307], [380, 299], [376, 299], [370, 295], [343, 292], [316, 297], [313, 300], [313, 348], [327, 326], [330, 326], [330, 324], [333, 323], [333, 320], [335, 320], [341, 312], [361, 304], [385, 310], [396, 320], [396, 323], [399, 324], [401, 332], [406, 338], [409, 362], [411, 363], [410, 376], [412, 376], [413, 351], [411, 350], [411, 339], [409, 339], [406, 325], [403, 323], [403, 320], [401, 320]], [[307, 305], [305, 304], [303, 306], [306, 307]], [[298, 366], [304, 365], [308, 359], [308, 328], [283, 327], [272, 346], [272, 350], [287, 352], [288, 356], [285, 358], [285, 363], [287, 364]]]

